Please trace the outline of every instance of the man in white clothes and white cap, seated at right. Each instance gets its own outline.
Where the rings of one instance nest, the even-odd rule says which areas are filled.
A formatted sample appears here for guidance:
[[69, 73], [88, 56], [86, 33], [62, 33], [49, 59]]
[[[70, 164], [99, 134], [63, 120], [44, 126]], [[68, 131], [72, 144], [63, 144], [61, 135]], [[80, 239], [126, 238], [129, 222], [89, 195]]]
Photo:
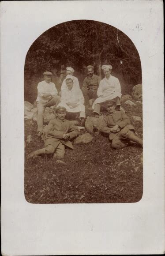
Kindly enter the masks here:
[[94, 114], [96, 117], [100, 114], [101, 104], [107, 100], [115, 100], [116, 110], [120, 109], [121, 87], [119, 79], [111, 75], [111, 65], [103, 65], [101, 69], [103, 69], [105, 78], [102, 79], [99, 84], [97, 90], [98, 98], [92, 105], [92, 109], [94, 109]]

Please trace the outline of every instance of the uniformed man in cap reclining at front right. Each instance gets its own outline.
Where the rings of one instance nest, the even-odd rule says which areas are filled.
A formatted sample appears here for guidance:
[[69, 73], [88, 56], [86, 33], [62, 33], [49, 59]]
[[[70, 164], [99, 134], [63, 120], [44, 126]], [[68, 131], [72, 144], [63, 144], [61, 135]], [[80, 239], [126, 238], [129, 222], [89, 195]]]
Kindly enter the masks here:
[[116, 111], [116, 102], [109, 100], [105, 102], [107, 115], [101, 121], [99, 130], [109, 134], [112, 147], [120, 149], [126, 147], [128, 142], [134, 141], [142, 146], [142, 139], [134, 135], [135, 129], [123, 110]]

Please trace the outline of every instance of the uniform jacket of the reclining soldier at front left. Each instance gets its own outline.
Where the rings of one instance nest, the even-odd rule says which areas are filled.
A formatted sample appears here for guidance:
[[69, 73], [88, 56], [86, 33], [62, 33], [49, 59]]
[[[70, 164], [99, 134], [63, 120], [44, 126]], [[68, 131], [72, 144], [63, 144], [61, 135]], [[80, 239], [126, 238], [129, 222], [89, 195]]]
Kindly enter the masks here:
[[68, 133], [70, 139], [73, 139], [79, 135], [79, 128], [66, 119], [60, 120], [59, 118], [55, 118], [50, 120], [46, 129], [45, 147], [47, 145], [52, 145], [56, 148], [61, 142], [73, 149], [71, 141], [63, 139], [64, 133]]

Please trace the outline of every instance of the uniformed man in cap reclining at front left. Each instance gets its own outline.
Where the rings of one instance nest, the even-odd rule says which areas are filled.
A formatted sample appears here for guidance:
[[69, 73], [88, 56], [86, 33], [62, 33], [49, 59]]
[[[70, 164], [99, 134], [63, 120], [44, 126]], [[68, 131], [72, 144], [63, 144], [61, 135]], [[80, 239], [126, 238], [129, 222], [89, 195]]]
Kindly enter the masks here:
[[[36, 158], [41, 154], [54, 154], [53, 158], [64, 158], [65, 147], [73, 149], [71, 139], [79, 135], [79, 128], [73, 122], [66, 120], [66, 109], [56, 108], [56, 118], [50, 120], [46, 129], [45, 147], [28, 155], [28, 158]], [[64, 162], [63, 162], [64, 163]]]

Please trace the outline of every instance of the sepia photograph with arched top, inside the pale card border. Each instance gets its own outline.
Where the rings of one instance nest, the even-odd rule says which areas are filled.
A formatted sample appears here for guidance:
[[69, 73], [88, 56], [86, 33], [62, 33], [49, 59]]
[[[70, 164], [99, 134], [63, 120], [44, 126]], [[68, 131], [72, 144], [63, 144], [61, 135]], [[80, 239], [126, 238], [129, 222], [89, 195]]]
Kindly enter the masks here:
[[136, 203], [143, 193], [142, 68], [121, 30], [72, 20], [41, 34], [24, 67], [29, 203]]

